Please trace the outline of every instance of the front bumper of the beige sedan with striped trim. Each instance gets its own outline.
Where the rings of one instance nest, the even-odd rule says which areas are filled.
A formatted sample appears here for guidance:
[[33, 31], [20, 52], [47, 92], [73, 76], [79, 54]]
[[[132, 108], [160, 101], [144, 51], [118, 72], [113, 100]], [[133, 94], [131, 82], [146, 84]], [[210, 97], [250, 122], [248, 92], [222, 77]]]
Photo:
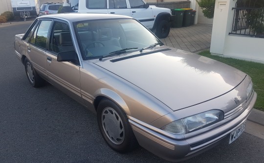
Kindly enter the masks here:
[[243, 112], [231, 121], [224, 123], [214, 129], [187, 139], [176, 140], [169, 138], [162, 132], [157, 132], [144, 122], [139, 122], [129, 117], [134, 135], [138, 143], [154, 153], [155, 155], [168, 161], [181, 161], [194, 157], [220, 143], [224, 138], [246, 121], [256, 102], [257, 94], [252, 93], [250, 100], [246, 103]]

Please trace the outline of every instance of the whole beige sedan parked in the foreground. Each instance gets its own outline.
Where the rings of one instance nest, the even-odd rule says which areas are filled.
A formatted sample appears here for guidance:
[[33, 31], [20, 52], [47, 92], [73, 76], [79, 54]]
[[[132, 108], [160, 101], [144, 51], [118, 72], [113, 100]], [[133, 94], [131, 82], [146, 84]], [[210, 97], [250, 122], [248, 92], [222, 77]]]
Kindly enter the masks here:
[[94, 112], [121, 153], [139, 143], [179, 161], [232, 143], [257, 98], [247, 74], [165, 46], [127, 16], [42, 16], [16, 35], [15, 53], [32, 86], [50, 82]]

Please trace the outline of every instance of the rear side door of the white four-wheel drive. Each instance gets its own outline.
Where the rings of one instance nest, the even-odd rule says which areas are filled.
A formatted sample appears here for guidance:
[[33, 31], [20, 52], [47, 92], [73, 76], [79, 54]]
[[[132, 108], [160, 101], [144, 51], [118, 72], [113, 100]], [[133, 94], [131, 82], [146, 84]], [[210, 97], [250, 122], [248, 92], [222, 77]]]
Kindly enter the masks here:
[[126, 0], [109, 0], [109, 14], [126, 15], [131, 17]]

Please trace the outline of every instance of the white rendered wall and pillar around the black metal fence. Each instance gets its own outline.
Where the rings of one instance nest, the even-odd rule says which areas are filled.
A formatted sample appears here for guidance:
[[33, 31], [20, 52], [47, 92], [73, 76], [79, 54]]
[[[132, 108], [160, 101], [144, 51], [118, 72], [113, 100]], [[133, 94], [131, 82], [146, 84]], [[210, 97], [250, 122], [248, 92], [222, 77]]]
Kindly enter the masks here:
[[[229, 35], [237, 0], [216, 0], [210, 52], [223, 57], [264, 63], [264, 39]], [[224, 5], [225, 4], [225, 5]]]

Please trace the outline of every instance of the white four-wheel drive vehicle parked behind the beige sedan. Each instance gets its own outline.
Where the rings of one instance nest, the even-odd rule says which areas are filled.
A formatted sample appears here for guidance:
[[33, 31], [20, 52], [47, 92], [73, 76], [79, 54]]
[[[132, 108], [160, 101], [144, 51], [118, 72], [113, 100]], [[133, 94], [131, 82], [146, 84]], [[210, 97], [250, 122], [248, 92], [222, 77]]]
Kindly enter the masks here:
[[170, 33], [171, 10], [149, 5], [144, 0], [65, 0], [61, 13], [105, 13], [133, 17], [155, 33], [166, 38]]

